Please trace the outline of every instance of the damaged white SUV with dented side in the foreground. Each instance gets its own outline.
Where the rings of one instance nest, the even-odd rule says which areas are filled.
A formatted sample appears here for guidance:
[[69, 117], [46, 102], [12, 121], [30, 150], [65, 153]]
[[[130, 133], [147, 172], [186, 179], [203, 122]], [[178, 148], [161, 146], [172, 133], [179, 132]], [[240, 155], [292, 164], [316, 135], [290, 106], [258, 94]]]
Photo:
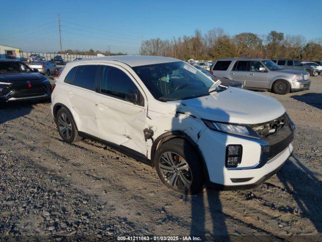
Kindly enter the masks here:
[[258, 186], [293, 150], [295, 127], [278, 101], [221, 86], [179, 59], [71, 62], [51, 99], [64, 141], [90, 138], [119, 149], [182, 193]]

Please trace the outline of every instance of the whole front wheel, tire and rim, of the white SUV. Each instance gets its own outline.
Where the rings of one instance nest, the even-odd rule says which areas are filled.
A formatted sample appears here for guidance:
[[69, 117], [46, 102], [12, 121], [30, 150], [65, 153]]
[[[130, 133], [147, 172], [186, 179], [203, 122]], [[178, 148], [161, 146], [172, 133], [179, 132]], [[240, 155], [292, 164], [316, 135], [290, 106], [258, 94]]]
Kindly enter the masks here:
[[193, 195], [203, 189], [200, 157], [187, 140], [174, 138], [162, 144], [155, 152], [154, 163], [162, 182], [176, 192]]

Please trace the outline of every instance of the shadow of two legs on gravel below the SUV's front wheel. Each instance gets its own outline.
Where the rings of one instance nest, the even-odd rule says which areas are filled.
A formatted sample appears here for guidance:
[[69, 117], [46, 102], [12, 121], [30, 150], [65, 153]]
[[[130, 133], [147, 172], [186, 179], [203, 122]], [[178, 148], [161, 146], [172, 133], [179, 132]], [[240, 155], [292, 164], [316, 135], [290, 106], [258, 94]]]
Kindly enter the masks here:
[[[207, 196], [209, 204], [209, 213], [212, 221], [211, 231], [206, 231], [205, 223], [207, 221], [204, 196]], [[207, 235], [209, 234], [209, 235]], [[200, 236], [201, 241], [210, 239], [209, 236], [220, 241], [230, 241], [227, 226], [225, 223], [225, 215], [222, 211], [222, 205], [219, 199], [219, 192], [207, 189], [206, 193], [201, 193], [191, 197], [191, 236]]]

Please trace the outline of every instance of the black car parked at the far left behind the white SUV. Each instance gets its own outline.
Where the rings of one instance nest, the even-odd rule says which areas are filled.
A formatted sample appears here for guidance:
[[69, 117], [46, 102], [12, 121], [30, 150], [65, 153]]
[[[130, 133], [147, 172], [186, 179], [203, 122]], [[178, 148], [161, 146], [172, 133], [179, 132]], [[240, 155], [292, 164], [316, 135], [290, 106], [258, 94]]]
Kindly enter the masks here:
[[51, 84], [37, 72], [20, 61], [0, 60], [0, 102], [49, 99]]

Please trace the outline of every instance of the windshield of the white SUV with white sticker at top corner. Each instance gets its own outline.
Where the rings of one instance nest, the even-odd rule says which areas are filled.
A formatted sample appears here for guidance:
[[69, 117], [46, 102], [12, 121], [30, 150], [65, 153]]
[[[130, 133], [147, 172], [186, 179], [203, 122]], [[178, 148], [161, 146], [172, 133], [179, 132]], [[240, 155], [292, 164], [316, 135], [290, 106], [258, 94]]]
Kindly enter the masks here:
[[185, 62], [139, 66], [134, 67], [133, 70], [153, 97], [160, 101], [205, 96], [209, 94], [209, 88], [215, 83]]

